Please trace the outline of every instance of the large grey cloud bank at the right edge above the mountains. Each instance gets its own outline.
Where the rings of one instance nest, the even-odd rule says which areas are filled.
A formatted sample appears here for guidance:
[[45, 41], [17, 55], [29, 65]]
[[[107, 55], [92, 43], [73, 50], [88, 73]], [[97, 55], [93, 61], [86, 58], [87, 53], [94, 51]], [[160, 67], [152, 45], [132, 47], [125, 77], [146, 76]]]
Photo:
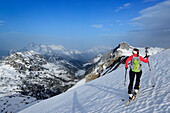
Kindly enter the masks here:
[[170, 45], [170, 0], [143, 9], [140, 16], [131, 21], [139, 25], [142, 30], [135, 30], [128, 34], [140, 43], [150, 46], [169, 47]]

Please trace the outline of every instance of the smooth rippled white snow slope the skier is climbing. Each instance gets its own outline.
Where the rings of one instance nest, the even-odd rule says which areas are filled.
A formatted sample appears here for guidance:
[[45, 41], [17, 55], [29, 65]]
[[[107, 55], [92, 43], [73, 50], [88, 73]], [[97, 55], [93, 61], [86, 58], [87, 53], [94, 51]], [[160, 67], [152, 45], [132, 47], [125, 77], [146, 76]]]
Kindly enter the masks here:
[[[151, 72], [148, 65], [143, 64], [139, 96], [129, 106], [125, 105], [128, 95], [122, 101], [124, 65], [121, 65], [110, 74], [44, 100], [20, 113], [169, 113], [170, 49], [151, 56], [150, 64]], [[155, 79], [154, 88], [151, 87], [150, 75]]]

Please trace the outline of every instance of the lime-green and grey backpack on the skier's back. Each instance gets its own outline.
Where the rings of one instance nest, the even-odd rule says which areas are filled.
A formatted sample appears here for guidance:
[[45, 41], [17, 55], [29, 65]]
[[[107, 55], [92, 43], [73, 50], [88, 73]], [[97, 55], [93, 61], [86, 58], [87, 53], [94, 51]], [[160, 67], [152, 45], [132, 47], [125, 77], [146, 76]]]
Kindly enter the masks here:
[[140, 72], [142, 70], [142, 65], [140, 64], [139, 57], [134, 57], [133, 56], [130, 69], [133, 72]]

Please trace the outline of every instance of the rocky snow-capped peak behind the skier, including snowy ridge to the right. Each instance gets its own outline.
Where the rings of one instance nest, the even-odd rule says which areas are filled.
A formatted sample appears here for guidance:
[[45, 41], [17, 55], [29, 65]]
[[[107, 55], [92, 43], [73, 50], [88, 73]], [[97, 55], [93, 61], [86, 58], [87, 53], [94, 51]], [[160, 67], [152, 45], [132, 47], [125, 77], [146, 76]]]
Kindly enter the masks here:
[[[108, 53], [101, 56], [99, 60], [90, 67], [88, 70], [89, 73], [86, 76], [86, 82], [89, 82], [93, 79], [96, 79], [100, 76], [104, 76], [106, 73], [116, 70], [120, 64], [124, 63], [127, 56], [132, 55], [132, 50], [134, 47], [130, 46], [126, 42], [120, 43], [116, 48], [111, 49]], [[139, 48], [140, 56], [146, 55], [146, 48]], [[154, 55], [160, 51], [164, 50], [163, 48], [153, 48], [150, 47], [147, 49], [148, 55]]]

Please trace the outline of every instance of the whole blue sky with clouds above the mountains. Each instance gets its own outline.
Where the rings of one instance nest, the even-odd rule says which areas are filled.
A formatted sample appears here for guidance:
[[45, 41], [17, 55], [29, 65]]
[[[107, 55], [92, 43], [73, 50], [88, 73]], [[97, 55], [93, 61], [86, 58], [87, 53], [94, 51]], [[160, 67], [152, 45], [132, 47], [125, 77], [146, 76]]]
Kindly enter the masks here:
[[0, 50], [170, 47], [170, 0], [0, 0]]

